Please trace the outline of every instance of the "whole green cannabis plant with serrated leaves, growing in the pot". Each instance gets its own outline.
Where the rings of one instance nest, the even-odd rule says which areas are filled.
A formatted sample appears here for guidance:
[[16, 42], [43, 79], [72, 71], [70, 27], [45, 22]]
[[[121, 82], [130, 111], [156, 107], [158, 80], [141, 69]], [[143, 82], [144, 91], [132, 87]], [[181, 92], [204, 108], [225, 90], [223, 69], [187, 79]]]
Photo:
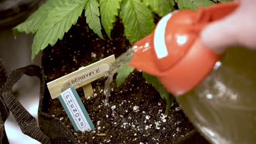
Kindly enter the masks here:
[[[153, 31], [155, 14], [162, 17], [173, 11], [174, 7], [196, 10], [200, 5], [207, 6], [216, 2], [217, 0], [48, 0], [26, 21], [14, 27], [13, 34], [15, 37], [20, 32], [35, 34], [32, 44], [33, 59], [49, 44], [53, 46], [58, 39], [62, 40], [63, 35], [77, 23], [78, 17], [85, 10], [86, 23], [102, 39], [103, 29], [111, 39], [114, 23], [120, 17], [125, 28], [124, 35], [133, 44]], [[118, 85], [124, 82], [132, 70], [127, 65], [119, 70]], [[143, 74], [143, 77], [153, 84], [162, 98], [167, 99], [170, 107], [171, 96], [158, 79], [148, 74]]]

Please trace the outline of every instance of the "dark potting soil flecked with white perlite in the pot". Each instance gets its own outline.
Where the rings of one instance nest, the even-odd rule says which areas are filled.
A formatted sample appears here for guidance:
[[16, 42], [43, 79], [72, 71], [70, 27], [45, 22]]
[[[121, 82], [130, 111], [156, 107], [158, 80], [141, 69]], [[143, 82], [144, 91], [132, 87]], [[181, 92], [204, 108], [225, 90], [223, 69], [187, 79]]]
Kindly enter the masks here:
[[[112, 40], [106, 34], [105, 40], [100, 39], [85, 23], [85, 17], [79, 17], [78, 24], [62, 41], [44, 50], [42, 65], [47, 82], [107, 56], [114, 54], [118, 57], [131, 46], [123, 37], [120, 22], [115, 24]], [[92, 82], [94, 95], [90, 99], [85, 99], [82, 88], [77, 89], [95, 125], [93, 131], [75, 131], [60, 100], [49, 100], [48, 113], [60, 119], [80, 143], [173, 143], [194, 130], [175, 101], [168, 115], [164, 115], [165, 99], [161, 99], [138, 70], [133, 71], [119, 88], [115, 86], [115, 80], [112, 82], [109, 106], [104, 105], [106, 78]], [[198, 134], [193, 140], [189, 143], [207, 143]]]

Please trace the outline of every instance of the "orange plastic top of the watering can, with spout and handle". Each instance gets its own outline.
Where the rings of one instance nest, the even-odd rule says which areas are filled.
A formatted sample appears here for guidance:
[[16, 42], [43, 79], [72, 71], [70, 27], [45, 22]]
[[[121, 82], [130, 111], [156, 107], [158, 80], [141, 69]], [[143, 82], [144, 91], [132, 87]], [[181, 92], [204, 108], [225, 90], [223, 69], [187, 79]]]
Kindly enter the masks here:
[[174, 95], [188, 92], [219, 59], [201, 43], [201, 29], [230, 14], [238, 5], [218, 3], [197, 11], [176, 10], [162, 17], [152, 34], [133, 45], [130, 66], [158, 76]]

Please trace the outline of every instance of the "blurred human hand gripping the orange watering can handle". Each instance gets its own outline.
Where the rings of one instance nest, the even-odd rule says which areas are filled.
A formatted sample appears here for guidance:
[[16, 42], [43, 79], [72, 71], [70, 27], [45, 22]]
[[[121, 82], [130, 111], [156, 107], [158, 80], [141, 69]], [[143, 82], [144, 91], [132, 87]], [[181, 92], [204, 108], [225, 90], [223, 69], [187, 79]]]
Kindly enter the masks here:
[[240, 2], [240, 6], [233, 13], [202, 30], [201, 39], [206, 47], [217, 53], [222, 53], [234, 45], [256, 50], [256, 1]]

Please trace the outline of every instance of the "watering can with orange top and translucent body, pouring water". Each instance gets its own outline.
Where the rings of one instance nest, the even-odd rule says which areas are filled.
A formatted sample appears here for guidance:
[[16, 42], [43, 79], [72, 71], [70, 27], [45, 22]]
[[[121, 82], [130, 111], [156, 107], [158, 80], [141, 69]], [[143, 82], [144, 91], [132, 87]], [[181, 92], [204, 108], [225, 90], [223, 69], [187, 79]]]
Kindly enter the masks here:
[[174, 11], [133, 46], [130, 65], [157, 76], [212, 143], [256, 143], [256, 51], [233, 47], [220, 56], [200, 39], [239, 5]]

